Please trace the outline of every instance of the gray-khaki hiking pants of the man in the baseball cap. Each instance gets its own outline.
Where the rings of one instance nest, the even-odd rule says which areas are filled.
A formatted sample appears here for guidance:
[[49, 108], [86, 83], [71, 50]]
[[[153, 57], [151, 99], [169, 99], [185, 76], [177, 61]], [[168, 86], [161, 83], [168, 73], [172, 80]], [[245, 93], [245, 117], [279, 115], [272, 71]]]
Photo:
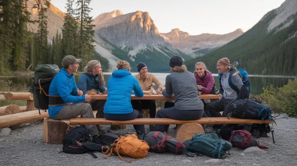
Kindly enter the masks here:
[[[80, 102], [76, 104], [65, 105], [60, 112], [53, 117], [55, 120], [76, 118], [80, 115], [81, 118], [95, 118], [92, 107], [89, 103]], [[90, 133], [94, 136], [98, 134], [96, 125], [84, 125], [89, 129]]]

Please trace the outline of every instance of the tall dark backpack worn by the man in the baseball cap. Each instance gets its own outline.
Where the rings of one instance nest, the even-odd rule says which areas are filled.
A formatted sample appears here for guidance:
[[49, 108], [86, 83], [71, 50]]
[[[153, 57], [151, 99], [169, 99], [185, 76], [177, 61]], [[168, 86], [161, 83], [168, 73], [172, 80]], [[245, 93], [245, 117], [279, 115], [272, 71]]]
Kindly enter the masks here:
[[59, 72], [60, 69], [55, 64], [38, 65], [35, 68], [30, 93], [33, 94], [34, 107], [38, 108], [39, 115], [40, 110], [48, 109], [48, 90], [50, 83]]

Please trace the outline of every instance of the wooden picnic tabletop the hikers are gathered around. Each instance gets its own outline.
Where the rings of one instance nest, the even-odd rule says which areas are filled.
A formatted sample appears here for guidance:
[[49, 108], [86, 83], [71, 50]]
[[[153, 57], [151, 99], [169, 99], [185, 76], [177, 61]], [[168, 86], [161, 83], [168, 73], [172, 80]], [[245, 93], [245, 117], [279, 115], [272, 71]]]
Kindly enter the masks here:
[[[219, 95], [210, 95], [210, 94], [202, 94], [199, 95], [200, 99], [219, 99]], [[92, 95], [92, 99], [94, 100], [106, 100], [107, 95]], [[131, 100], [174, 100], [174, 96], [170, 99], [163, 95], [143, 95], [143, 97], [136, 97], [135, 95], [131, 95]]]

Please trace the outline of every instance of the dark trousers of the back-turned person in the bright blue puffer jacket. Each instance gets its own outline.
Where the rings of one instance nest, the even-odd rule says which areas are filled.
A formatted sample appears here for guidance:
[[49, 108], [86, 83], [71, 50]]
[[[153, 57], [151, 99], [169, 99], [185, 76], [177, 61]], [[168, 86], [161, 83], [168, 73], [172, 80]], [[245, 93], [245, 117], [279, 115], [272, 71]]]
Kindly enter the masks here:
[[[132, 113], [128, 114], [108, 114], [104, 113], [104, 117], [110, 121], [129, 121], [135, 118], [142, 118], [141, 113], [138, 110], [133, 110]], [[133, 125], [137, 134], [145, 133], [144, 125]]]

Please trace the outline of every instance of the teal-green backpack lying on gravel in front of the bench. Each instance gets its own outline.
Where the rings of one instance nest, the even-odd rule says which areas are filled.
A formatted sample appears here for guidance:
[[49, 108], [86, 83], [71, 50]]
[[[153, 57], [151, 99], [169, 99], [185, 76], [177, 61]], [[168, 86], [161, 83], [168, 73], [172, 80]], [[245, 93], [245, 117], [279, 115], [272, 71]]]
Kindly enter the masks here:
[[232, 148], [230, 142], [220, 139], [217, 134], [200, 134], [200, 132], [184, 141], [184, 145], [190, 152], [204, 154], [215, 159], [222, 158]]

